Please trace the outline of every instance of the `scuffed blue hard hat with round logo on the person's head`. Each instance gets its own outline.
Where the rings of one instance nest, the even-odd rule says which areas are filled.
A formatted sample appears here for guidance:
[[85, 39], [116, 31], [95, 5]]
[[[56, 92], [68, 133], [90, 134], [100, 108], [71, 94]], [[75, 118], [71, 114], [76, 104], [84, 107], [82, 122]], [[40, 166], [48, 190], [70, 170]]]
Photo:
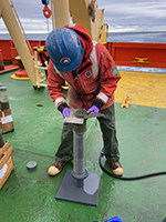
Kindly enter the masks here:
[[75, 31], [56, 28], [46, 38], [50, 59], [60, 72], [71, 72], [81, 64], [81, 40]]

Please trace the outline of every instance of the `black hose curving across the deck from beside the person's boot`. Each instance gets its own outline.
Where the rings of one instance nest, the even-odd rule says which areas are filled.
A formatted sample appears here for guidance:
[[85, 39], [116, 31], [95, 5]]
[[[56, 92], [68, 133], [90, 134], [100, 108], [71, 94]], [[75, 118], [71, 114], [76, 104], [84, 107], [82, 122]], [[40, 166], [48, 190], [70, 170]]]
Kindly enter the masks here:
[[98, 163], [101, 169], [108, 175], [111, 175], [112, 178], [116, 178], [118, 180], [141, 180], [141, 179], [145, 179], [145, 178], [152, 178], [152, 176], [156, 176], [156, 175], [164, 175], [166, 174], [165, 172], [156, 172], [156, 173], [151, 173], [151, 174], [145, 174], [145, 175], [139, 175], [139, 176], [132, 176], [132, 178], [124, 178], [124, 176], [120, 176], [120, 175], [115, 175], [111, 172], [108, 172], [103, 165], [102, 165], [102, 157], [104, 155], [104, 151], [102, 150], [101, 154], [100, 154], [100, 159], [98, 159]]

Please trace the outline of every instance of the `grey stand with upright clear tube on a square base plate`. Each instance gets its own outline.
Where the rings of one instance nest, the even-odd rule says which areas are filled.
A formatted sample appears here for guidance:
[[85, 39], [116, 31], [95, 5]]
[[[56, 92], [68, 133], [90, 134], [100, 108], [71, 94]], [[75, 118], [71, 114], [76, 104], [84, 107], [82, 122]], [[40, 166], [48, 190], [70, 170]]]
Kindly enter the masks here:
[[84, 168], [86, 120], [74, 124], [73, 170], [68, 170], [55, 195], [58, 200], [97, 205], [101, 174], [89, 173]]

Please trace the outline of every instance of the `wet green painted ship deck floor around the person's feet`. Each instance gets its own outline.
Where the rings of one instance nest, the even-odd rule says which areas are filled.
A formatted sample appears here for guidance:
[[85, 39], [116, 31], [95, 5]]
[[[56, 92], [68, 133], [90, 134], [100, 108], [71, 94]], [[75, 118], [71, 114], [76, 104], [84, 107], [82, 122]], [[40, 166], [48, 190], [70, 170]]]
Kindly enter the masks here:
[[[121, 181], [105, 174], [98, 165], [101, 131], [92, 120], [85, 165], [102, 174], [97, 206], [55, 200], [65, 171], [72, 169], [68, 163], [54, 178], [46, 173], [60, 144], [63, 118], [48, 89], [34, 90], [29, 80], [11, 79], [12, 73], [0, 74], [14, 124], [14, 132], [3, 134], [13, 148], [14, 170], [0, 191], [0, 222], [104, 222], [115, 215], [124, 222], [162, 222], [166, 218], [166, 175]], [[121, 109], [121, 103], [115, 110], [124, 176], [166, 171], [166, 110], [136, 104]], [[27, 170], [30, 160], [38, 162], [34, 171]]]

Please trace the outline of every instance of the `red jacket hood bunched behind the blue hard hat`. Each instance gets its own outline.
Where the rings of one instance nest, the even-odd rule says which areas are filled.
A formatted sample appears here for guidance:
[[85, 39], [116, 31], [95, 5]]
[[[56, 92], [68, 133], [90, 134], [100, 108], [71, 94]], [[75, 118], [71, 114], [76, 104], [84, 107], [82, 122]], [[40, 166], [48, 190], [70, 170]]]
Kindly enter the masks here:
[[72, 29], [77, 33], [85, 50], [84, 57], [89, 58], [93, 49], [93, 42], [87, 31], [81, 24], [65, 26], [65, 28]]

